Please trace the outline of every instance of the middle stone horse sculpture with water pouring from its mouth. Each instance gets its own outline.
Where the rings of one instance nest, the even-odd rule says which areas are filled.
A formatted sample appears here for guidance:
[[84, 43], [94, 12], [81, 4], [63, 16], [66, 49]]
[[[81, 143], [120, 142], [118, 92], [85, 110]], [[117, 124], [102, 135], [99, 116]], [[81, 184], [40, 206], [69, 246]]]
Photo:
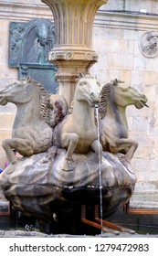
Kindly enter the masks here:
[[67, 149], [63, 170], [75, 168], [73, 153], [87, 154], [91, 148], [99, 155], [101, 146], [94, 120], [94, 107], [99, 102], [100, 82], [90, 75], [81, 75], [74, 95], [73, 112], [55, 127], [55, 144]]

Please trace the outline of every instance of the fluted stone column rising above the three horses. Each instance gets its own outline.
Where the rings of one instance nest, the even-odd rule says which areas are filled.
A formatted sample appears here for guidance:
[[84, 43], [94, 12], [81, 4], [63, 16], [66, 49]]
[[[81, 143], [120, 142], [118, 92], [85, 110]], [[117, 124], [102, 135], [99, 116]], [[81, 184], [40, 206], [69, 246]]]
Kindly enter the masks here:
[[41, 0], [54, 16], [56, 45], [49, 52], [49, 62], [58, 67], [56, 79], [60, 95], [68, 105], [73, 100], [79, 72], [89, 73], [98, 61], [92, 48], [92, 27], [97, 10], [108, 0]]

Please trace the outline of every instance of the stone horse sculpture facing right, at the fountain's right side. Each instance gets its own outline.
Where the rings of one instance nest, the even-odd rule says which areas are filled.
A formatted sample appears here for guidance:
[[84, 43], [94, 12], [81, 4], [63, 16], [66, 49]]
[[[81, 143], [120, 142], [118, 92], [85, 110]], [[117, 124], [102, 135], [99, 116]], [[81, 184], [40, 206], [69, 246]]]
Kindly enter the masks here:
[[100, 142], [104, 151], [122, 153], [120, 160], [129, 166], [138, 144], [128, 138], [126, 107], [134, 105], [142, 109], [147, 98], [141, 92], [119, 80], [102, 87], [100, 96]]

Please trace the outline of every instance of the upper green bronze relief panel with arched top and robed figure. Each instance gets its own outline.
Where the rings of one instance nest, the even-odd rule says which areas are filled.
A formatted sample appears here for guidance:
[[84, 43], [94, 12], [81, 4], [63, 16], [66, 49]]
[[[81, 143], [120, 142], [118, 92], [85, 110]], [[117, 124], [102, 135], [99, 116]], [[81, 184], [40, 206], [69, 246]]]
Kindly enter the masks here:
[[9, 28], [9, 67], [19, 63], [49, 64], [48, 52], [55, 44], [54, 24], [44, 18], [28, 23], [11, 22]]

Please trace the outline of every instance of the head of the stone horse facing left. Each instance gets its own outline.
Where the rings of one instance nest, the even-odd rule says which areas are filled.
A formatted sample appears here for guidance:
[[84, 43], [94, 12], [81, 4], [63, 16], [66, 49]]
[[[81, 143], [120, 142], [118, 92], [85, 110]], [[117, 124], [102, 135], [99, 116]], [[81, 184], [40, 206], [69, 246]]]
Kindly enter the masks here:
[[0, 104], [5, 105], [7, 102], [26, 103], [31, 101], [35, 91], [36, 87], [30, 77], [16, 80], [16, 82], [0, 90]]

